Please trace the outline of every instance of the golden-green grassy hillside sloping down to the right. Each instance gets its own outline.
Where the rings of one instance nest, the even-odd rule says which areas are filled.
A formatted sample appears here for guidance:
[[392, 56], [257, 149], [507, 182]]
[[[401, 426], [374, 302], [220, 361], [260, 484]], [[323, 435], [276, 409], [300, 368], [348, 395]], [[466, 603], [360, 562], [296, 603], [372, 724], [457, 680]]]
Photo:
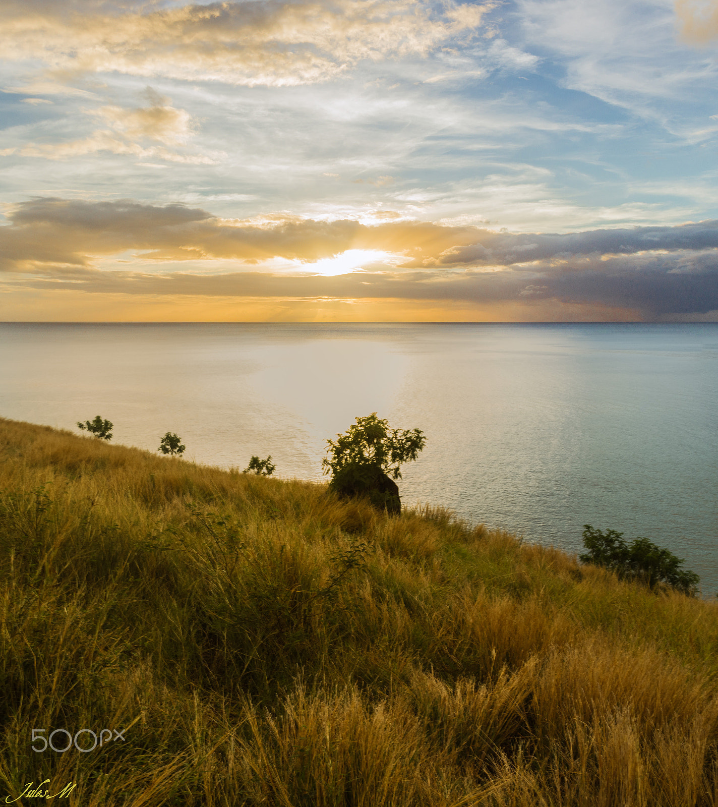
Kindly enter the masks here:
[[440, 508], [0, 420], [0, 585], [0, 798], [718, 802], [718, 606]]

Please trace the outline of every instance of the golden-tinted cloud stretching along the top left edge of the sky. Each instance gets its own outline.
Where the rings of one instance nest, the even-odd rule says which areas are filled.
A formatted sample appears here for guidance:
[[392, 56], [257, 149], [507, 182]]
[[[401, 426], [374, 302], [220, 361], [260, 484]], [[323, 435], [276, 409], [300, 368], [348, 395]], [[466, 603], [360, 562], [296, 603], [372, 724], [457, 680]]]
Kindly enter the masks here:
[[357, 61], [424, 56], [473, 31], [490, 3], [420, 0], [212, 2], [115, 13], [94, 2], [10, 0], [0, 48], [67, 82], [125, 73], [234, 85], [321, 82]]

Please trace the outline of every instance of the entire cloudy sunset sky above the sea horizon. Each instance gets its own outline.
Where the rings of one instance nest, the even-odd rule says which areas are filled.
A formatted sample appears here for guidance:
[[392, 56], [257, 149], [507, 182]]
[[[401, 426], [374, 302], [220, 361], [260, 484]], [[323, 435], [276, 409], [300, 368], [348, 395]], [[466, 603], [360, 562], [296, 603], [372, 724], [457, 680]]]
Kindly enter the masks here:
[[0, 320], [718, 321], [718, 2], [2, 16]]

